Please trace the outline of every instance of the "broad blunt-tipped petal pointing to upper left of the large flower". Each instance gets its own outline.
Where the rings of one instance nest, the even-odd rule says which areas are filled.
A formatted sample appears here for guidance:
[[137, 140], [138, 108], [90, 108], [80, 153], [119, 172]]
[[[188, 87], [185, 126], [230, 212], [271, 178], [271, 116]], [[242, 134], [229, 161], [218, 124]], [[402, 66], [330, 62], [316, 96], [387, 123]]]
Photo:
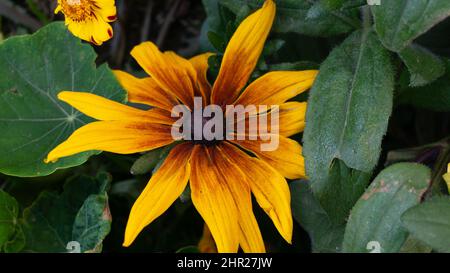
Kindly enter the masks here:
[[162, 53], [151, 42], [136, 46], [131, 55], [162, 89], [193, 106], [197, 74], [188, 60], [173, 52]]

